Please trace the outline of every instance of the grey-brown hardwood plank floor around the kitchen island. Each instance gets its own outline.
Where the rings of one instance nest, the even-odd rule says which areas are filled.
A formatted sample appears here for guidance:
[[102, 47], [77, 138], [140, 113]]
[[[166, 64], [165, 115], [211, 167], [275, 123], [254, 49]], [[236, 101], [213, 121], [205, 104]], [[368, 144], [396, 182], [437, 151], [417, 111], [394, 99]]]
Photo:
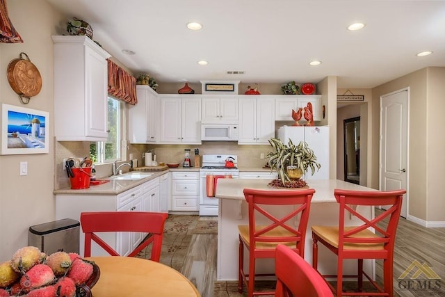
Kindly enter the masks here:
[[[376, 209], [376, 214], [378, 212]], [[217, 240], [215, 234], [194, 234], [181, 272], [196, 284], [203, 297], [245, 296], [238, 294], [236, 282], [216, 282]], [[419, 266], [416, 266], [415, 261], [419, 262]], [[414, 267], [410, 270], [413, 263]], [[409, 273], [406, 278], [399, 280], [404, 271]], [[432, 273], [430, 276], [439, 278], [426, 278], [425, 273], [431, 271], [437, 275]], [[382, 263], [377, 261], [376, 279], [381, 282], [381, 278]], [[394, 296], [445, 297], [445, 228], [426, 228], [405, 218], [400, 219], [393, 281]]]

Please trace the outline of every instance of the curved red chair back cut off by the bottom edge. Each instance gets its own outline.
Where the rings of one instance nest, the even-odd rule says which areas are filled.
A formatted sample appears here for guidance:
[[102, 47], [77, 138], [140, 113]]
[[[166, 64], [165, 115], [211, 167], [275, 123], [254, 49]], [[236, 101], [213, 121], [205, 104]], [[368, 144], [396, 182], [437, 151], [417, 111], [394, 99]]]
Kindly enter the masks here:
[[288, 246], [279, 244], [275, 252], [277, 287], [275, 297], [332, 297], [325, 280]]

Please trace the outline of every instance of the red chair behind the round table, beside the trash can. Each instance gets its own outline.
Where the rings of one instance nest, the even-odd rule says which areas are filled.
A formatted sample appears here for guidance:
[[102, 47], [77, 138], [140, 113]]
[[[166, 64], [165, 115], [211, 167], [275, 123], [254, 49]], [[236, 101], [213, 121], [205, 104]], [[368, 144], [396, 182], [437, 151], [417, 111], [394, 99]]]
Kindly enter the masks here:
[[147, 232], [145, 241], [128, 256], [134, 257], [149, 243], [153, 243], [150, 259], [159, 262], [161, 257], [164, 223], [168, 214], [146, 211], [102, 211], [81, 213], [81, 225], [85, 233], [85, 257], [91, 255], [91, 241], [95, 241], [108, 254], [119, 256], [111, 246], [97, 236], [97, 232]]

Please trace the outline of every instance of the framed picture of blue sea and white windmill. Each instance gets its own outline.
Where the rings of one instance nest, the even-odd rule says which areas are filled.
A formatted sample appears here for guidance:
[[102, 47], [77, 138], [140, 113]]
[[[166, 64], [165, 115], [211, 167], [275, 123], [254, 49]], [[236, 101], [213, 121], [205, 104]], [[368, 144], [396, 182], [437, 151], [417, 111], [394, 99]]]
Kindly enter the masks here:
[[47, 154], [49, 113], [1, 104], [1, 154]]

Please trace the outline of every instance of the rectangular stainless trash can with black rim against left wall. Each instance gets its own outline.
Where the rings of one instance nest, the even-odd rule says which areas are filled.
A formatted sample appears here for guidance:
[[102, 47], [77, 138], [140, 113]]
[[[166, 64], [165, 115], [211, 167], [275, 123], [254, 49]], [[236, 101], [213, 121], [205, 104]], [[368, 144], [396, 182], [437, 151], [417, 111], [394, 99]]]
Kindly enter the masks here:
[[64, 218], [29, 227], [29, 246], [36, 246], [48, 255], [58, 250], [79, 253], [80, 223]]

